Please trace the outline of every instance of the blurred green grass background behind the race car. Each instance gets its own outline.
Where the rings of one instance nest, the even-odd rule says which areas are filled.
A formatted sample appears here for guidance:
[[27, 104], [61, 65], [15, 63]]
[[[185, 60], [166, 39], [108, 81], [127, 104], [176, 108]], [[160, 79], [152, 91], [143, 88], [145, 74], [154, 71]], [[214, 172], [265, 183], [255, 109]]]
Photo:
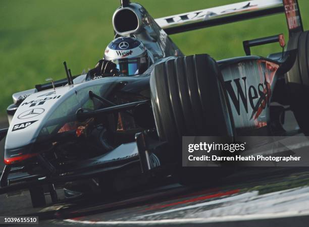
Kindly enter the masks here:
[[[153, 18], [240, 2], [241, 0], [136, 0]], [[132, 1], [134, 2], [134, 1]], [[299, 0], [304, 29], [309, 29], [309, 2]], [[73, 74], [92, 68], [113, 39], [112, 15], [118, 0], [1, 0], [0, 116], [14, 92], [65, 77], [63, 61]], [[171, 38], [185, 54], [209, 53], [216, 60], [244, 55], [242, 41], [284, 33], [284, 14], [200, 29]], [[279, 44], [252, 48], [268, 55]]]

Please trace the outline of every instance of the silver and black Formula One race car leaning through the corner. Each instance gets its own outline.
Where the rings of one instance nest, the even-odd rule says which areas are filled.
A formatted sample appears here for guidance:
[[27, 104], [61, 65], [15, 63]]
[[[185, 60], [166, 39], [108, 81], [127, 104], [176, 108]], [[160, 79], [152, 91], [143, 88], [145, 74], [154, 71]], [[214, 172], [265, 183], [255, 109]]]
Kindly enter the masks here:
[[[168, 36], [278, 13], [286, 15], [287, 45], [282, 34], [246, 40], [246, 56], [233, 59], [184, 56]], [[61, 182], [97, 178], [103, 191], [128, 173], [190, 182], [179, 167], [182, 136], [282, 135], [286, 106], [309, 133], [309, 103], [302, 101], [309, 97], [309, 32], [297, 0], [253, 0], [156, 20], [123, 0], [113, 26], [116, 38], [143, 43], [148, 69], [89, 79], [72, 77], [65, 64], [66, 79], [13, 94], [10, 127], [0, 131], [6, 136], [1, 193], [29, 189], [33, 206], [42, 206], [46, 189], [57, 201]], [[251, 46], [272, 42], [283, 51], [250, 55]]]

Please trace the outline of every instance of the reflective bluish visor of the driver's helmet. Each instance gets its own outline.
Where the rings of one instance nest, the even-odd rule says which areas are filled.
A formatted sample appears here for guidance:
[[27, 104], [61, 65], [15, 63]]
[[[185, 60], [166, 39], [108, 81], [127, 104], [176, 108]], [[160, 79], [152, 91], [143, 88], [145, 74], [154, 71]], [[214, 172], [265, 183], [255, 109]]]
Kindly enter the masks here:
[[119, 73], [126, 76], [142, 74], [148, 67], [147, 56], [131, 59], [116, 59], [112, 60], [112, 62], [116, 64]]

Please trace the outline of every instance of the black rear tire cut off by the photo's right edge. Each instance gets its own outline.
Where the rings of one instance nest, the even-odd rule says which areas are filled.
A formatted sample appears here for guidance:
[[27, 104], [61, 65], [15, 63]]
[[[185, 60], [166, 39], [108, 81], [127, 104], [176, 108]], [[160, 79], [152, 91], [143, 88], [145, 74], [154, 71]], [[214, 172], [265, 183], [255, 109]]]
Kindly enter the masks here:
[[302, 132], [309, 135], [309, 31], [291, 37], [287, 48], [298, 51], [294, 66], [286, 74], [291, 109]]

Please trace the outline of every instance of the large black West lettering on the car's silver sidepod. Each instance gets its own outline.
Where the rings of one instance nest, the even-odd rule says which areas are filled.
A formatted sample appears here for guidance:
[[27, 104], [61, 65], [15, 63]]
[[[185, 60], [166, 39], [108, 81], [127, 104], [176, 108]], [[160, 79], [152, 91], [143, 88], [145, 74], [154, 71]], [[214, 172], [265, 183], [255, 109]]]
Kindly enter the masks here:
[[[252, 108], [251, 118], [253, 118], [254, 113], [257, 112], [260, 108], [261, 110], [265, 109], [266, 106], [269, 106], [269, 97], [271, 94], [270, 83], [267, 82], [266, 77], [264, 75], [264, 83], [258, 84], [258, 86], [254, 87], [253, 85], [247, 88], [246, 77], [242, 77], [241, 79], [233, 80], [236, 85], [236, 92], [232, 87], [232, 80], [225, 81], [226, 90], [235, 106], [235, 109], [240, 115], [240, 101], [243, 104], [243, 107], [248, 113], [248, 102]], [[241, 86], [243, 85], [243, 86]], [[244, 89], [243, 89], [244, 88]], [[254, 104], [254, 100], [256, 100]], [[260, 114], [261, 111], [259, 111]], [[258, 116], [255, 116], [257, 118]]]

